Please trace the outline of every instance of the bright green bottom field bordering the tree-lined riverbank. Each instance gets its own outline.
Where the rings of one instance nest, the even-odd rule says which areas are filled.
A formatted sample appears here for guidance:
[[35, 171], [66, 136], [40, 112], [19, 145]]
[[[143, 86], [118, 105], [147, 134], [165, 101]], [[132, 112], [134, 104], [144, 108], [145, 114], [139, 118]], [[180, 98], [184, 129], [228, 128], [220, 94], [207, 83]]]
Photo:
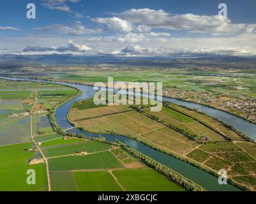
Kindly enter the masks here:
[[126, 191], [184, 191], [177, 184], [154, 170], [112, 171]]

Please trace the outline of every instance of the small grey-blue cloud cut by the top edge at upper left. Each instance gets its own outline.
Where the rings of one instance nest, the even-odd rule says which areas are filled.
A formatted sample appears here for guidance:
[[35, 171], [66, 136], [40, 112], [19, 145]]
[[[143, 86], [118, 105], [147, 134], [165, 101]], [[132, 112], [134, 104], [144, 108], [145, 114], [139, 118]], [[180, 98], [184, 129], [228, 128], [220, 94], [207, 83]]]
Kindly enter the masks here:
[[72, 12], [67, 2], [78, 3], [80, 0], [44, 0], [42, 5], [50, 10], [61, 10], [66, 12]]

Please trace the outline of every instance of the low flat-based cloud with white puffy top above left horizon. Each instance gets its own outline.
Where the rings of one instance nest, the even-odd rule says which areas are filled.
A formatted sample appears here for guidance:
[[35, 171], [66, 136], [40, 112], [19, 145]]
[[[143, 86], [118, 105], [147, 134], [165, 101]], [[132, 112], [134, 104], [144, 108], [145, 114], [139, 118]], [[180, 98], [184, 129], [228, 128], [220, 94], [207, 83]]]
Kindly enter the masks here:
[[73, 41], [69, 41], [66, 45], [61, 45], [60, 47], [31, 47], [27, 46], [24, 48], [23, 52], [49, 52], [49, 51], [56, 51], [56, 52], [88, 52], [92, 49], [87, 47], [86, 45], [76, 45]]

